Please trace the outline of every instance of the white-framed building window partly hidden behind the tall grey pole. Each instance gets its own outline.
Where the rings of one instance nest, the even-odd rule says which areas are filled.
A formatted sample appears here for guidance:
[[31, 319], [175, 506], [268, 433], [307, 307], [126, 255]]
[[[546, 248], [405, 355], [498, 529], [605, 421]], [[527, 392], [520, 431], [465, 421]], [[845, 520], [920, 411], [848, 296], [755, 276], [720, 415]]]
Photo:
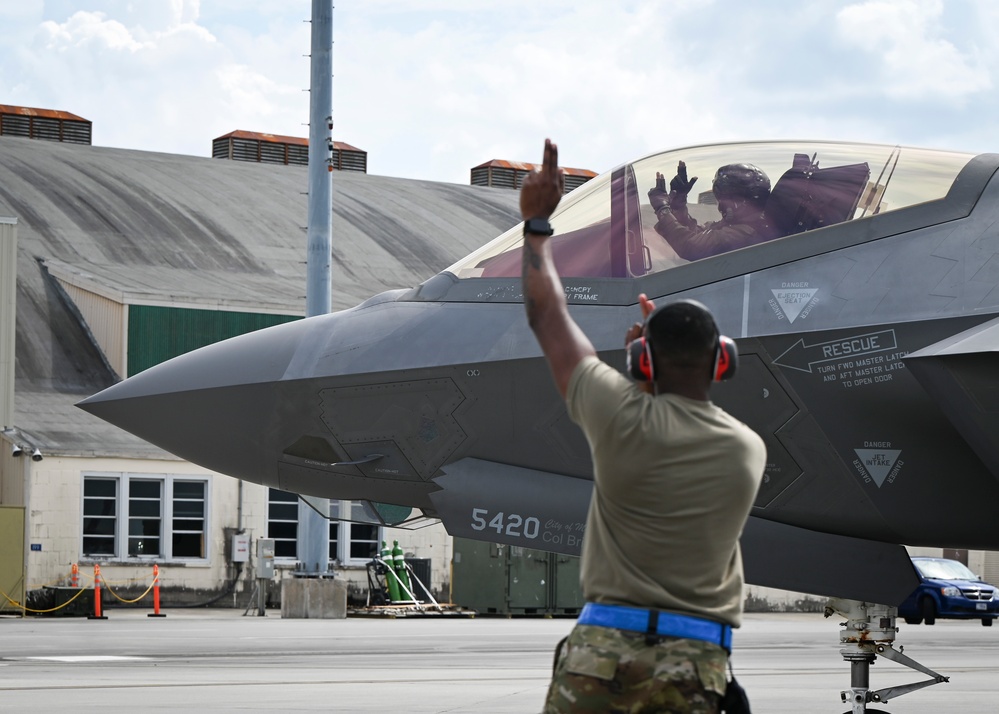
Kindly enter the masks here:
[[[285, 562], [298, 559], [298, 521], [300, 509], [309, 508], [300, 503], [297, 494], [268, 489], [267, 537], [274, 539], [274, 557]], [[360, 501], [330, 501], [330, 518], [343, 513], [359, 520], [367, 519], [366, 509]], [[360, 565], [378, 555], [382, 529], [378, 524], [330, 521], [330, 562], [340, 565]]]

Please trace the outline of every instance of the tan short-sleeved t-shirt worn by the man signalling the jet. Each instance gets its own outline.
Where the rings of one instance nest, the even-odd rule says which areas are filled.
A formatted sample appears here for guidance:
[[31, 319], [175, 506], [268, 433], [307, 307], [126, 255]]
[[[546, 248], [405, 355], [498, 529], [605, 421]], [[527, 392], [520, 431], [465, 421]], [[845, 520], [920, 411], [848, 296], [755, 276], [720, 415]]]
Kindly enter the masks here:
[[596, 357], [577, 365], [566, 402], [593, 455], [586, 599], [739, 626], [739, 536], [763, 440], [711, 402], [645, 394]]

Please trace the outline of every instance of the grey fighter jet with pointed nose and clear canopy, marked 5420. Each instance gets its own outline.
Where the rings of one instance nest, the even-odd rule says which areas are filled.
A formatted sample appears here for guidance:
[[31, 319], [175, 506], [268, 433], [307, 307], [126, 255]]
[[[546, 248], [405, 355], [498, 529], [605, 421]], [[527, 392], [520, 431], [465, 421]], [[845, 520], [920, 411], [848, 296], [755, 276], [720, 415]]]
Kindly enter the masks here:
[[[647, 193], [680, 161], [702, 186], [758, 168], [767, 240], [678, 253]], [[738, 374], [712, 398], [768, 449], [750, 583], [890, 607], [917, 584], [900, 544], [999, 549], [997, 169], [996, 154], [899, 146], [698, 146], [623, 164], [552, 216], [569, 310], [602, 359], [625, 369], [640, 293], [699, 300], [735, 340]], [[721, 218], [704, 188], [688, 207], [702, 224]], [[524, 317], [521, 235], [81, 406], [221, 473], [367, 501], [388, 524], [578, 554], [590, 454]]]

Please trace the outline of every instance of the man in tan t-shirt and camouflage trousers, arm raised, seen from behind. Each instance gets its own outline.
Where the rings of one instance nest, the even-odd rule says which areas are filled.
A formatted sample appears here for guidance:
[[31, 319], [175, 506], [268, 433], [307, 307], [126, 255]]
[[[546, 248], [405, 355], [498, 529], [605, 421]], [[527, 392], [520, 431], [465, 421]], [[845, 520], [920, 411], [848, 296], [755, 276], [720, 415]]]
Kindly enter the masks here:
[[[586, 605], [559, 643], [545, 712], [737, 711], [725, 666], [742, 617], [739, 536], [766, 449], [711, 403], [720, 337], [690, 300], [658, 309], [625, 335], [648, 354], [632, 382], [596, 354], [569, 316], [548, 218], [562, 196], [558, 150], [520, 194], [528, 323], [593, 458], [580, 579]], [[690, 182], [692, 183], [692, 182]], [[645, 351], [647, 348], [647, 352]], [[645, 373], [643, 373], [644, 376]]]

